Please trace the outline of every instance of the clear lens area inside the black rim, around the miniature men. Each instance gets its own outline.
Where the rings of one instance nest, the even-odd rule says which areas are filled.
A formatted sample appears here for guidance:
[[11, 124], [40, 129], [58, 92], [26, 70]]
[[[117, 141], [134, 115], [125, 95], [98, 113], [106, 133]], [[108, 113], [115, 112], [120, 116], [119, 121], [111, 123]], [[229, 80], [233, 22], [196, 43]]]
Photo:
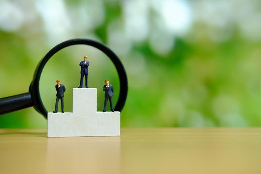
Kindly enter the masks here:
[[[114, 64], [102, 51], [88, 45], [73, 45], [55, 53], [46, 63], [41, 73], [39, 90], [42, 103], [48, 112], [55, 110], [56, 80], [66, 87], [64, 93], [64, 111], [72, 112], [73, 89], [80, 85], [80, 62], [87, 56], [88, 87], [97, 88], [97, 111], [103, 110], [105, 79], [109, 79], [114, 87], [113, 102], [116, 104], [119, 97], [120, 82]], [[83, 80], [85, 88], [85, 78]], [[61, 103], [58, 104], [61, 112]]]

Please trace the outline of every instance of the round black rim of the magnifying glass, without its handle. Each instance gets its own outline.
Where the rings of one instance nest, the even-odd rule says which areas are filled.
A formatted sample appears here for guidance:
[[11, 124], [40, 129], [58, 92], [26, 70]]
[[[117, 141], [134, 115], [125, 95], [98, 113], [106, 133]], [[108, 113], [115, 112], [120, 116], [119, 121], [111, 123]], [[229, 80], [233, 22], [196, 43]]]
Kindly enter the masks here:
[[42, 70], [47, 63], [47, 61], [58, 51], [61, 49], [72, 46], [72, 45], [89, 45], [93, 46], [99, 50], [101, 50], [103, 53], [105, 53], [110, 60], [113, 62], [113, 64], [116, 67], [116, 70], [119, 75], [120, 79], [120, 93], [119, 93], [119, 98], [118, 102], [114, 108], [115, 111], [121, 111], [125, 105], [126, 99], [127, 99], [127, 92], [128, 92], [128, 80], [127, 80], [127, 74], [126, 71], [123, 67], [123, 64], [121, 63], [120, 59], [118, 56], [106, 45], [91, 40], [91, 39], [86, 39], [86, 38], [76, 38], [76, 39], [70, 39], [67, 41], [64, 41], [58, 45], [56, 45], [54, 48], [52, 48], [42, 59], [42, 61], [38, 64], [36, 71], [34, 73], [34, 78], [33, 81], [30, 85], [29, 91], [31, 92], [32, 99], [35, 103], [34, 108], [40, 112], [46, 119], [48, 116], [48, 112], [46, 108], [44, 107], [41, 96], [40, 96], [40, 89], [39, 89], [39, 82], [40, 82], [40, 77]]

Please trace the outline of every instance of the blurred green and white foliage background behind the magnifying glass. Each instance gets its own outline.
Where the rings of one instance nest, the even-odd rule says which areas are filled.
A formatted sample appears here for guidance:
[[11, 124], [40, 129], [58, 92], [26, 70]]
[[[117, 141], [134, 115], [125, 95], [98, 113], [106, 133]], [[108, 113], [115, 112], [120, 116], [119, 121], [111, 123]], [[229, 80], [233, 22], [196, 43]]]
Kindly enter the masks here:
[[[106, 44], [126, 68], [122, 127], [261, 126], [260, 0], [0, 0], [0, 98], [27, 92], [45, 54], [79, 37]], [[105, 79], [117, 102], [112, 62], [95, 48], [71, 46], [42, 73], [48, 111], [56, 79], [67, 88], [65, 111], [72, 111], [84, 55], [97, 109]], [[31, 107], [1, 115], [0, 128], [47, 128], [47, 121]]]

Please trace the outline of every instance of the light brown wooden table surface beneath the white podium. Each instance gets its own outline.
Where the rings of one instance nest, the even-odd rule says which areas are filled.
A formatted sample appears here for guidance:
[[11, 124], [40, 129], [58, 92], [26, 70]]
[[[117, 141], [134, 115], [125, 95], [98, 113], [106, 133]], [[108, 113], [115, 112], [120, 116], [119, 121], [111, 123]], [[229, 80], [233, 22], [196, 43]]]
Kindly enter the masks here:
[[0, 174], [261, 174], [261, 128], [122, 128], [47, 138], [0, 129]]

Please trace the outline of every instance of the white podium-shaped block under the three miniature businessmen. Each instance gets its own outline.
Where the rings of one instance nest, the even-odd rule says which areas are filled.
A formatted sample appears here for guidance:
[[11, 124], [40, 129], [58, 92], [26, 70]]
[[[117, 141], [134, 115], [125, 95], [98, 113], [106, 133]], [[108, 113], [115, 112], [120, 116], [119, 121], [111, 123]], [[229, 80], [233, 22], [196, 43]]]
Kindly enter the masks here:
[[120, 136], [120, 112], [97, 112], [96, 88], [73, 88], [73, 112], [48, 112], [48, 137], [84, 136]]

